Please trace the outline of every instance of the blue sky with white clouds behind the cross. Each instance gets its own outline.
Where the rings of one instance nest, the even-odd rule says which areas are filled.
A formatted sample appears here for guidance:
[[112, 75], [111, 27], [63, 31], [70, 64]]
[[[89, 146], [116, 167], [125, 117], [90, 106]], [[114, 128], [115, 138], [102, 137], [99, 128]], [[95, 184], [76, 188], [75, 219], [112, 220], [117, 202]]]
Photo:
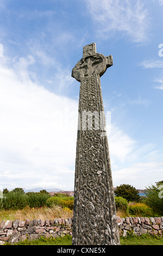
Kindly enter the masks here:
[[162, 180], [162, 14], [162, 0], [1, 0], [1, 190], [74, 190], [71, 72], [92, 42], [113, 58], [101, 86], [114, 187]]

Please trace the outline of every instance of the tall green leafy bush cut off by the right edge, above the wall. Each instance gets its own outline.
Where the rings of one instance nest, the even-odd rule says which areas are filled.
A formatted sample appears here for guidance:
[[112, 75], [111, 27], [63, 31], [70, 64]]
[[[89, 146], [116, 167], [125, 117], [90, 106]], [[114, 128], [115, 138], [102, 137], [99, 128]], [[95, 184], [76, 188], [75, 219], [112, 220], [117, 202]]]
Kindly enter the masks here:
[[156, 182], [147, 188], [145, 203], [153, 209], [155, 214], [163, 214], [163, 181]]

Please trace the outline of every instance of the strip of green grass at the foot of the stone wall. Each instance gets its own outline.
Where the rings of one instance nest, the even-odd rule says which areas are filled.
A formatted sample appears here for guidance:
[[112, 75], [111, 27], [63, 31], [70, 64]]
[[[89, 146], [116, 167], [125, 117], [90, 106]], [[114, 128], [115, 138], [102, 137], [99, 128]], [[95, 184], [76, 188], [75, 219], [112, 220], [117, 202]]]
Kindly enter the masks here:
[[[34, 241], [25, 240], [19, 242], [16, 245], [72, 245], [72, 236], [65, 235], [62, 237], [53, 238], [50, 237], [46, 239], [45, 237], [40, 237], [40, 239]], [[163, 245], [163, 237], [160, 236], [151, 236], [151, 235], [142, 235], [142, 236], [127, 236], [120, 237], [121, 246], [123, 245]], [[6, 243], [9, 245], [9, 243]]]

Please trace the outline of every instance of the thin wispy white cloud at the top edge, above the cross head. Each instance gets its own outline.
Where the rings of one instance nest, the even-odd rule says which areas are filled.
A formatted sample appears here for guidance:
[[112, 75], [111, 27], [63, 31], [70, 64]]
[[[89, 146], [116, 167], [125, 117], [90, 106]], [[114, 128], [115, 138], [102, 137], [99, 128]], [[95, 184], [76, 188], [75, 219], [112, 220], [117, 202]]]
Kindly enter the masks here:
[[85, 2], [101, 36], [104, 34], [110, 37], [112, 33], [122, 32], [134, 42], [148, 41], [150, 19], [142, 1], [86, 0]]

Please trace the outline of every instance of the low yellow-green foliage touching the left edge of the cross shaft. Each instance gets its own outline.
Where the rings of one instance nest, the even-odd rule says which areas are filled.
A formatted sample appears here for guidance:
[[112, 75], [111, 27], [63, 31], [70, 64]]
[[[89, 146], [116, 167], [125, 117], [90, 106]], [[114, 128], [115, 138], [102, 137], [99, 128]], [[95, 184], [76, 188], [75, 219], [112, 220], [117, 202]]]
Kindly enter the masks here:
[[73, 197], [51, 197], [47, 200], [46, 205], [52, 207], [53, 205], [60, 205], [62, 208], [73, 209]]

